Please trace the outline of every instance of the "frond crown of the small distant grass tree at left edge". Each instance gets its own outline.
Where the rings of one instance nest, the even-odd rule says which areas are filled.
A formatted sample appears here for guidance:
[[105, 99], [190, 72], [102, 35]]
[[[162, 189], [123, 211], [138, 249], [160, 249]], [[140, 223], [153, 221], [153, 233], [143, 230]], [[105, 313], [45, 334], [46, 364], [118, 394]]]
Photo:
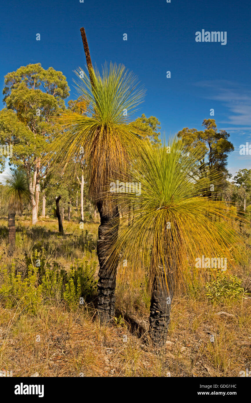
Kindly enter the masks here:
[[10, 214], [23, 212], [31, 201], [31, 193], [29, 191], [29, 182], [25, 172], [15, 170], [6, 176], [8, 185], [4, 192], [5, 203], [8, 206]]

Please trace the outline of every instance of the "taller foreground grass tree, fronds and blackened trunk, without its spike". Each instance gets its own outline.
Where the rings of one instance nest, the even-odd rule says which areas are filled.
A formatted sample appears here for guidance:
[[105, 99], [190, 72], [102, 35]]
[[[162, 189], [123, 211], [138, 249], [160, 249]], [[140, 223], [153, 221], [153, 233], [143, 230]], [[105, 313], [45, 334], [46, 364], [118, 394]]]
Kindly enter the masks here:
[[144, 90], [122, 65], [105, 65], [101, 74], [90, 66], [89, 69], [90, 77], [82, 69], [78, 70], [81, 79], [76, 83], [80, 96], [87, 101], [86, 115], [73, 111], [62, 113], [57, 120], [58, 135], [49, 146], [47, 160], [52, 162], [60, 156], [62, 169], [71, 172], [75, 172], [76, 164], [82, 166], [89, 197], [100, 213], [97, 309], [104, 323], [115, 312], [116, 253], [112, 264], [107, 262], [119, 226], [118, 204], [106, 189], [111, 181], [127, 175], [129, 161], [141, 147], [141, 132], [129, 127], [128, 119], [142, 101]]

